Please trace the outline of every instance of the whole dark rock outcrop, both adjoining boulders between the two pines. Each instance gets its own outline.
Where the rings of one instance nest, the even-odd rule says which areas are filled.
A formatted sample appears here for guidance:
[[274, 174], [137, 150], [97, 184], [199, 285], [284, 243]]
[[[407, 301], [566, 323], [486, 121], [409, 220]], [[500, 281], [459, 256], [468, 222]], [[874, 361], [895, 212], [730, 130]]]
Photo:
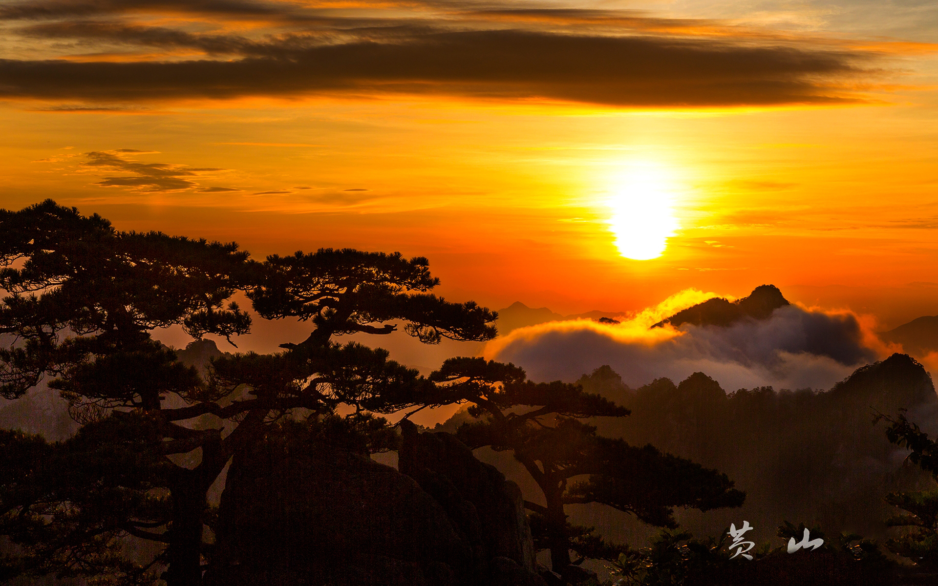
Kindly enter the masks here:
[[521, 490], [403, 422], [401, 473], [271, 432], [234, 459], [209, 586], [544, 586]]

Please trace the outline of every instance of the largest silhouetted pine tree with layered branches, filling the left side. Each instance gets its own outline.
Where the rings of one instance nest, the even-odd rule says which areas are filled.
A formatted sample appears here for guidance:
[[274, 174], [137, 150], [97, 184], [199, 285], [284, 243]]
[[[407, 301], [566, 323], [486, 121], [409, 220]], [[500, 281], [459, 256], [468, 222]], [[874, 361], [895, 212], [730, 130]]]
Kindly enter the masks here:
[[[234, 243], [119, 232], [52, 201], [0, 210], [0, 263], [0, 393], [22, 397], [49, 378], [83, 424], [65, 443], [7, 439], [5, 470], [37, 471], [0, 486], [0, 529], [23, 551], [5, 563], [11, 575], [136, 583], [165, 564], [170, 586], [197, 585], [206, 493], [235, 452], [297, 412], [327, 418], [345, 404], [380, 427], [371, 413], [430, 396], [386, 351], [333, 337], [388, 334], [389, 322], [428, 343], [495, 333], [492, 311], [428, 293], [439, 281], [423, 258], [326, 248], [255, 263]], [[229, 302], [237, 291], [267, 319], [310, 320], [310, 337], [223, 357], [204, 379], [152, 338], [170, 325], [193, 338], [247, 333], [250, 317]], [[133, 563], [126, 535], [166, 547]]]

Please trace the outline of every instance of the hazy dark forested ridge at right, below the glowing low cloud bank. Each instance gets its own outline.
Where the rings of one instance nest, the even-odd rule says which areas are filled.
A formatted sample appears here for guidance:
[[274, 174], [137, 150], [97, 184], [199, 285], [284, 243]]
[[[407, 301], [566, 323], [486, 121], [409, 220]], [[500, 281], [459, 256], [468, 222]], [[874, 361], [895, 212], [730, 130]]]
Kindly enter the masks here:
[[[826, 393], [761, 387], [727, 395], [695, 373], [678, 385], [645, 385], [625, 405], [632, 410], [626, 420], [597, 421], [604, 435], [652, 443], [727, 473], [749, 495], [733, 516], [748, 519], [760, 538], [784, 520], [882, 537], [894, 514], [885, 494], [925, 476], [903, 468], [904, 451], [873, 427], [873, 410], [908, 408], [926, 427], [938, 411], [928, 372], [905, 354], [858, 368]], [[730, 522], [715, 513], [691, 528], [716, 533]]]

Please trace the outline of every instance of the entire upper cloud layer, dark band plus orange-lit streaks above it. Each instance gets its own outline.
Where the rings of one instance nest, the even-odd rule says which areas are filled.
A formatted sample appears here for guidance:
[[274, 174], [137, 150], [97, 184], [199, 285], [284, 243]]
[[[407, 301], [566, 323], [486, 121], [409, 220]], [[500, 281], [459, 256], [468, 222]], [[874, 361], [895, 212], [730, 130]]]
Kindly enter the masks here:
[[[418, 3], [391, 5], [379, 18], [363, 8], [281, 2], [133, 4], [0, 8], [12, 35], [48, 48], [48, 58], [0, 60], [0, 97], [437, 94], [643, 107], [831, 104], [862, 101], [853, 88], [876, 75], [869, 51], [635, 11]], [[187, 18], [173, 18], [180, 12]], [[251, 25], [234, 26], [245, 20]]]

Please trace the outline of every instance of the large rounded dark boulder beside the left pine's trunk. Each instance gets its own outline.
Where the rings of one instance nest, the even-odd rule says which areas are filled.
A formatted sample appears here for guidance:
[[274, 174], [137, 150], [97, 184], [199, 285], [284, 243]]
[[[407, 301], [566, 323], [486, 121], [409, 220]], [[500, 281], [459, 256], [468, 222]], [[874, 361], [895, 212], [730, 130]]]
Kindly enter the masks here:
[[236, 457], [206, 583], [455, 585], [472, 552], [410, 476], [338, 448], [271, 437]]

